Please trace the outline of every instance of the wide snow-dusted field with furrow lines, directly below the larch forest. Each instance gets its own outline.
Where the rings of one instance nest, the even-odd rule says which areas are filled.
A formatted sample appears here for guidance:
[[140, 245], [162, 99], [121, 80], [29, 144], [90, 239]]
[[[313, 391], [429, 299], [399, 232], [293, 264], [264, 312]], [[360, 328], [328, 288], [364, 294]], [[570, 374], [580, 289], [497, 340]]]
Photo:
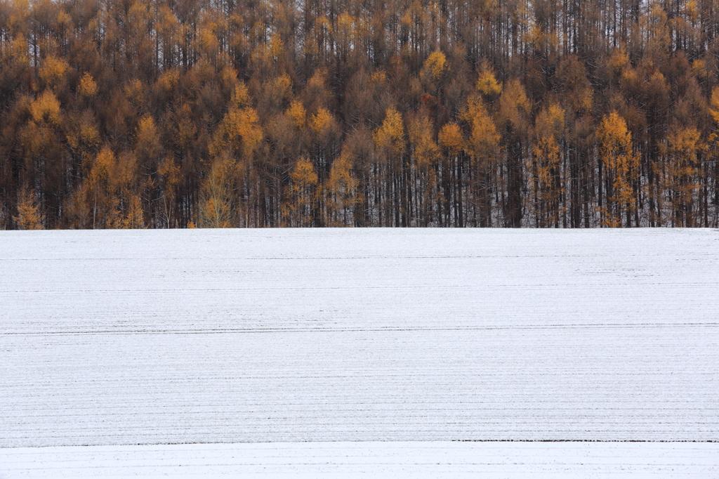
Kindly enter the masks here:
[[0, 232], [0, 268], [3, 448], [719, 439], [715, 230]]

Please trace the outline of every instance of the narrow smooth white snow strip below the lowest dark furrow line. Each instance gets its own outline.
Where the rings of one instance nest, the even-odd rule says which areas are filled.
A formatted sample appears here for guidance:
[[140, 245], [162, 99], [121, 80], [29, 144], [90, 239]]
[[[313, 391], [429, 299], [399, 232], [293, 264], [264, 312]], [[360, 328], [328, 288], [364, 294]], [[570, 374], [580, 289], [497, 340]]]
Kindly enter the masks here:
[[0, 449], [0, 479], [719, 477], [717, 443], [273, 442]]

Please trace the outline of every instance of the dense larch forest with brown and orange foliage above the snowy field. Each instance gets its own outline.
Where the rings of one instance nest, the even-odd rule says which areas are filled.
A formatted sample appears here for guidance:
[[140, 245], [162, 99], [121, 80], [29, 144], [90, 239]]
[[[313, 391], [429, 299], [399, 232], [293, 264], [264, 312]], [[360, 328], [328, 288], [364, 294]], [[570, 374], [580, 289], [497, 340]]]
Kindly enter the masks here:
[[716, 0], [0, 0], [0, 229], [719, 227]]

